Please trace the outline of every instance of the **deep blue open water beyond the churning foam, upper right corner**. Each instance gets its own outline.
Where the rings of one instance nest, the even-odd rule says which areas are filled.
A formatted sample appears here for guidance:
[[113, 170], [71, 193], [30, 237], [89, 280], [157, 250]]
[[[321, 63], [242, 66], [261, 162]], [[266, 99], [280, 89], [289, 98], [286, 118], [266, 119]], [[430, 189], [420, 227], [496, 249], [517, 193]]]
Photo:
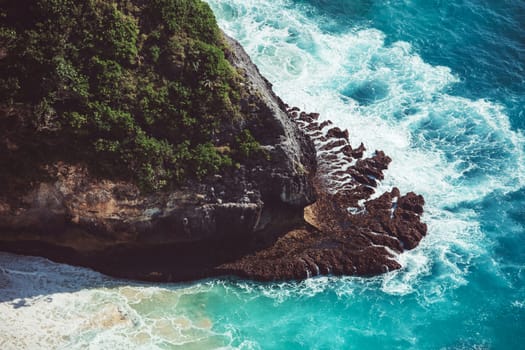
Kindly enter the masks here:
[[525, 2], [296, 1], [331, 33], [377, 28], [386, 43], [409, 42], [432, 65], [461, 79], [453, 93], [504, 104], [514, 128], [525, 128]]

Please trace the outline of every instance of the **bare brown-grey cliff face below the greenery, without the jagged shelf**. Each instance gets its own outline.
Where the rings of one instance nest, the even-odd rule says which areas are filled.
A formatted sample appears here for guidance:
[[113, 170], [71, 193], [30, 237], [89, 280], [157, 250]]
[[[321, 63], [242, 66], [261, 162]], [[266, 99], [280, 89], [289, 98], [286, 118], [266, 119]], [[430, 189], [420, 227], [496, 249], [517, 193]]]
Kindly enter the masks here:
[[101, 180], [56, 162], [51, 181], [0, 194], [0, 249], [145, 279], [190, 279], [273, 243], [314, 201], [315, 150], [239, 44], [228, 59], [245, 74], [245, 125], [264, 152], [204, 181], [143, 195], [130, 182]]

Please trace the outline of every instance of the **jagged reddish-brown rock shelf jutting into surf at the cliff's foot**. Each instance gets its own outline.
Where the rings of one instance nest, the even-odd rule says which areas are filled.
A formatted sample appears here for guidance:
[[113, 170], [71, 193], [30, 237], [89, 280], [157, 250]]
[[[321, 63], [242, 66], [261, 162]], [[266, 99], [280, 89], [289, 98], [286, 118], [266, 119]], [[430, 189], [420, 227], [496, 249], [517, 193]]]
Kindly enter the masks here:
[[318, 122], [316, 113], [288, 114], [314, 141], [318, 199], [305, 209], [311, 225], [297, 228], [275, 245], [223, 268], [261, 280], [302, 279], [315, 275], [376, 275], [399, 269], [396, 255], [413, 249], [426, 234], [421, 222], [424, 199], [401, 195], [397, 188], [377, 198], [378, 181], [391, 159], [382, 151], [364, 158], [364, 145], [353, 149], [349, 133]]

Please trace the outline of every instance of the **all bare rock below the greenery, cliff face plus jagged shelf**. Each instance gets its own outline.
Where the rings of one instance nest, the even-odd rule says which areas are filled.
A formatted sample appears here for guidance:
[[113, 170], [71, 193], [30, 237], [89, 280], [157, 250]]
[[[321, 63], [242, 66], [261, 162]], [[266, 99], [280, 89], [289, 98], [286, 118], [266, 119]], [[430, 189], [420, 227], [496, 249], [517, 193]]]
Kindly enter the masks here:
[[253, 100], [244, 108], [261, 149], [246, 164], [176, 190], [145, 195], [82, 164], [50, 164], [49, 180], [0, 193], [0, 250], [34, 254], [126, 278], [179, 281], [375, 275], [426, 233], [424, 200], [377, 182], [390, 163], [363, 158], [348, 132], [288, 109], [242, 47], [230, 63]]

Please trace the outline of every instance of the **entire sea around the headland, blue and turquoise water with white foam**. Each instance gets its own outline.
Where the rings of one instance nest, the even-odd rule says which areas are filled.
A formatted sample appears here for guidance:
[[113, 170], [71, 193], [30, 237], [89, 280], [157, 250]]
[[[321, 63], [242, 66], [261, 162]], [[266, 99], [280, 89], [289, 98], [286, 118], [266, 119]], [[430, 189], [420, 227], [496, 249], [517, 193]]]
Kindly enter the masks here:
[[393, 158], [428, 236], [372, 279], [118, 281], [0, 254], [0, 347], [525, 348], [525, 3], [209, 0], [290, 105]]

